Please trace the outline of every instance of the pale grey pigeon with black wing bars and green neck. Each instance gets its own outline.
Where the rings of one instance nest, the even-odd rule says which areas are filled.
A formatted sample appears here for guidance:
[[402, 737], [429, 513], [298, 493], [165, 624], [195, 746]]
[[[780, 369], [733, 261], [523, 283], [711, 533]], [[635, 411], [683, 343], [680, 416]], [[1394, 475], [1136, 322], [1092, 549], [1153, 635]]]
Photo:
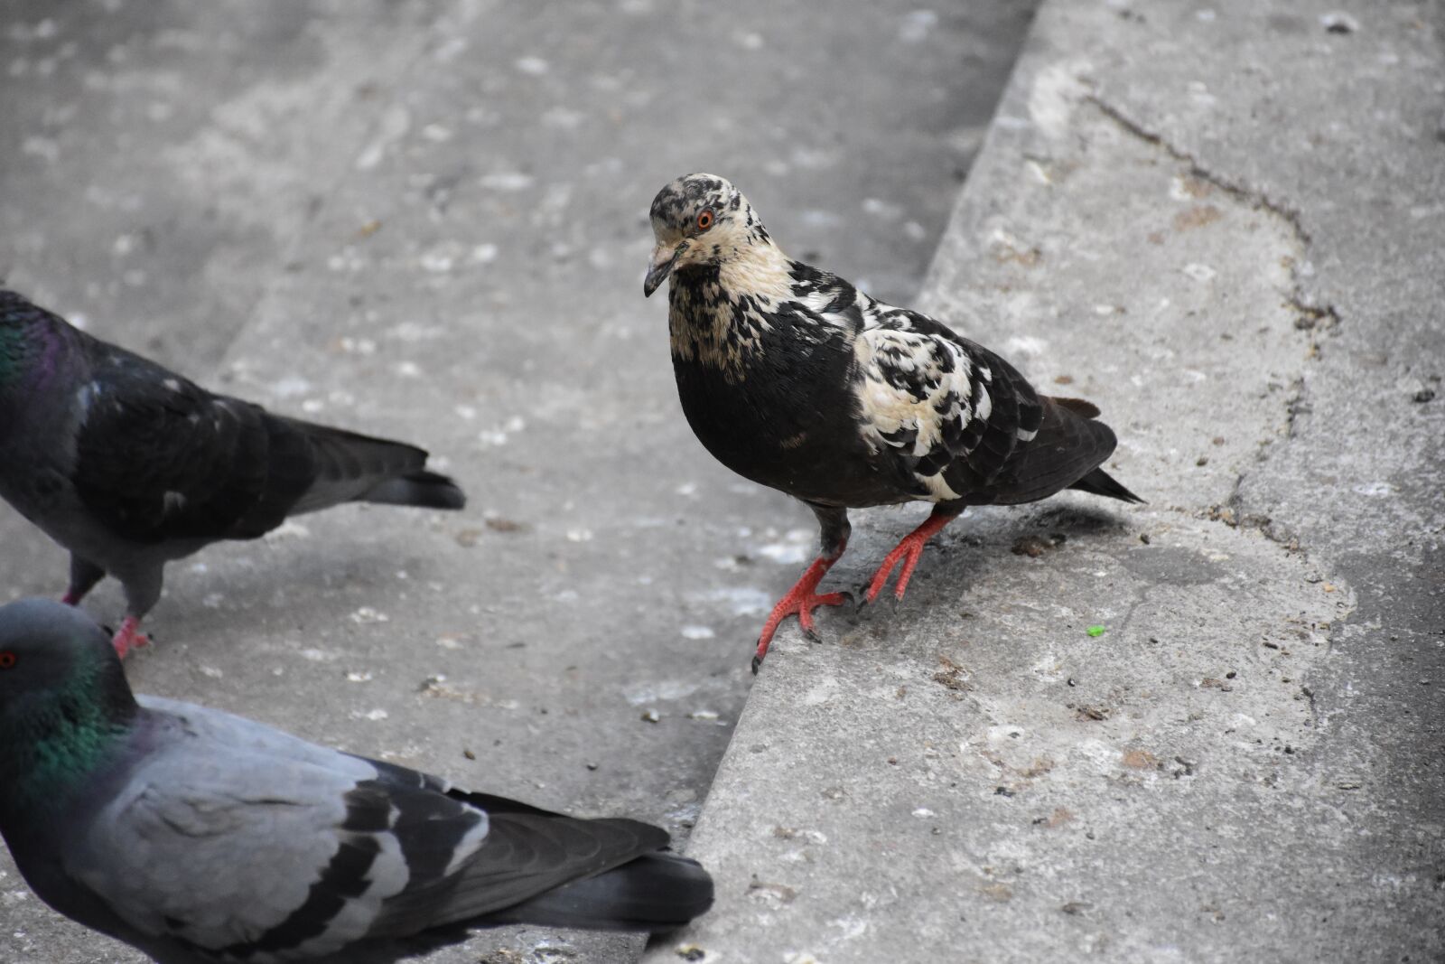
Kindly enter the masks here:
[[133, 697], [105, 632], [49, 600], [0, 607], [0, 834], [46, 903], [162, 964], [366, 964], [497, 924], [665, 931], [712, 903], [649, 824]]

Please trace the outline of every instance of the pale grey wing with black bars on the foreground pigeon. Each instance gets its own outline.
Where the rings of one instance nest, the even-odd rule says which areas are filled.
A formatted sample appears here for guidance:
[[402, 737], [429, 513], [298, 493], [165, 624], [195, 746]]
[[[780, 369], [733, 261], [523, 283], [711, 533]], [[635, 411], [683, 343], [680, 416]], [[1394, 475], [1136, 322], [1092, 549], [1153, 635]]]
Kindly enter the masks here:
[[434, 778], [397, 788], [368, 760], [240, 717], [143, 705], [160, 749], [64, 860], [153, 942], [253, 964], [334, 954], [487, 837], [486, 814]]

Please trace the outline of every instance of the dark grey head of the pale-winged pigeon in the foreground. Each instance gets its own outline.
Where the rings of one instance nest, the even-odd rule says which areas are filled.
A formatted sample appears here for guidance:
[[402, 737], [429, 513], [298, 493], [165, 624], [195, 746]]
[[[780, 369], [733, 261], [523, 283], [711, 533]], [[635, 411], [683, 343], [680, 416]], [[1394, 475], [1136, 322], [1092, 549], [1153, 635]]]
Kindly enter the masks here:
[[84, 610], [53, 600], [0, 606], [0, 727], [88, 704], [134, 707], [110, 636]]

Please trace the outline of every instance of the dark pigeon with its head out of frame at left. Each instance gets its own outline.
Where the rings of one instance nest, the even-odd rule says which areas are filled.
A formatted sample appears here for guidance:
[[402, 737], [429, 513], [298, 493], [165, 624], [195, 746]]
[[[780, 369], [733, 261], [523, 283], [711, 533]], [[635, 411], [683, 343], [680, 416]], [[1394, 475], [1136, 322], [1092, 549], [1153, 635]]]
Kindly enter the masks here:
[[342, 502], [460, 509], [415, 445], [212, 395], [0, 291], [0, 496], [71, 552], [65, 601], [126, 591], [124, 656], [165, 564]]

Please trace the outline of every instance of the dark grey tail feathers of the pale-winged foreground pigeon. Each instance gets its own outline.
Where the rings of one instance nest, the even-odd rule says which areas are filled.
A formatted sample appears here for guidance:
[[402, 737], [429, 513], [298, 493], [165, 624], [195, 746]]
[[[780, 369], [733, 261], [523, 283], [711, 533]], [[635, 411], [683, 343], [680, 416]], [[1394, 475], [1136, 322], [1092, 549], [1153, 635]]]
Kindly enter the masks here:
[[644, 854], [488, 915], [487, 924], [591, 931], [675, 931], [712, 906], [712, 877], [696, 860]]

